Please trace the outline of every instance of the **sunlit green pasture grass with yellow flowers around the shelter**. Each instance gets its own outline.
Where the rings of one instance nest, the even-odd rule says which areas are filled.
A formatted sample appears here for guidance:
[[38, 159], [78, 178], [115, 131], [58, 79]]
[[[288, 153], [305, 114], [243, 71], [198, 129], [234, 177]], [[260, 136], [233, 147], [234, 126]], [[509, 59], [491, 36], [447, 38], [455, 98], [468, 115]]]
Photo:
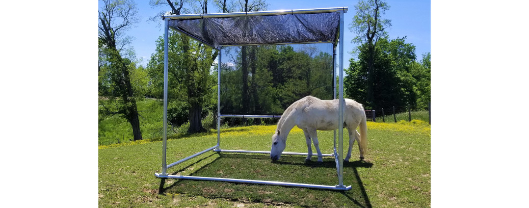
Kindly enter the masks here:
[[[269, 150], [275, 126], [223, 129], [223, 149]], [[344, 132], [344, 135], [346, 133]], [[318, 132], [320, 148], [332, 151], [332, 131]], [[352, 162], [344, 163], [347, 192], [297, 187], [235, 184], [195, 180], [159, 179], [161, 142], [99, 149], [99, 206], [175, 207], [427, 207], [430, 206], [430, 125], [368, 122], [366, 161], [353, 147]], [[344, 138], [347, 141], [347, 138]], [[347, 142], [344, 142], [347, 143]], [[216, 134], [173, 139], [168, 163], [216, 144]], [[344, 144], [344, 148], [346, 148]], [[303, 132], [289, 134], [285, 151], [306, 152]], [[171, 174], [279, 180], [335, 185], [334, 159], [323, 164], [305, 162], [303, 156], [207, 152], [170, 168]]]

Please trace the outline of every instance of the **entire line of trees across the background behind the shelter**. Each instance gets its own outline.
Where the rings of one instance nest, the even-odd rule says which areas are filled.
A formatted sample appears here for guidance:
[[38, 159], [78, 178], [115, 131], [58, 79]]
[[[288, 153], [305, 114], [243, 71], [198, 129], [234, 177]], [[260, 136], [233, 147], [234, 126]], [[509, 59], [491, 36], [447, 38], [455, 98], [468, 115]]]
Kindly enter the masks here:
[[[142, 139], [135, 102], [163, 97], [163, 37], [156, 41], [147, 66], [138, 66], [134, 51], [127, 48], [127, 28], [138, 23], [135, 3], [103, 1], [99, 8], [99, 112], [100, 119], [119, 115], [131, 123], [134, 140]], [[152, 6], [172, 14], [208, 13], [208, 1], [151, 1]], [[216, 12], [251, 12], [266, 10], [262, 0], [209, 2]], [[210, 5], [210, 7], [211, 7]], [[361, 1], [355, 6], [350, 30], [358, 60], [351, 59], [345, 70], [345, 97], [367, 108], [402, 105], [427, 106], [430, 102], [430, 53], [416, 60], [415, 46], [406, 37], [391, 40], [384, 29], [390, 21], [381, 19], [389, 6], [385, 2]], [[159, 16], [151, 17], [160, 21]], [[363, 15], [363, 16], [362, 16]], [[332, 99], [333, 57], [311, 46], [229, 47], [231, 60], [223, 59], [221, 85], [217, 86], [218, 51], [170, 31], [168, 122], [189, 122], [188, 133], [204, 132], [202, 118], [217, 112], [217, 87], [221, 87], [221, 113], [245, 115], [280, 115], [298, 98], [313, 95]], [[216, 116], [213, 116], [217, 119]], [[229, 120], [229, 119], [227, 119]], [[248, 125], [258, 120], [232, 119], [234, 125]], [[213, 122], [216, 124], [216, 120]]]

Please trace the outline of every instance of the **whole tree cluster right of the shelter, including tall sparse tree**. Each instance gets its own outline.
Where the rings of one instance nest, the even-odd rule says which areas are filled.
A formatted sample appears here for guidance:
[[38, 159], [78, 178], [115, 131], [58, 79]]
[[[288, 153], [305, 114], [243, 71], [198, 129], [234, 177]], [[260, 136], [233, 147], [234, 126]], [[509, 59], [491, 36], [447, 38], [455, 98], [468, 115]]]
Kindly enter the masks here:
[[406, 37], [388, 39], [385, 29], [390, 20], [382, 19], [389, 9], [383, 1], [359, 1], [350, 31], [357, 34], [353, 51], [358, 60], [350, 59], [345, 69], [345, 96], [371, 109], [388, 106], [417, 105], [426, 108], [430, 102], [430, 53], [417, 62], [415, 46]]

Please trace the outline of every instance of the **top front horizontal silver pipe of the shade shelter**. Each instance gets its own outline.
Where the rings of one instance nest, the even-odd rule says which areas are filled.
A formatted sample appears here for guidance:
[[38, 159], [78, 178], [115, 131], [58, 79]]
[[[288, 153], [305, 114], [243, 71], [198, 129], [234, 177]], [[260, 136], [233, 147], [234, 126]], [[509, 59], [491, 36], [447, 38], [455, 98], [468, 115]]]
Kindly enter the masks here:
[[202, 19], [202, 18], [216, 18], [216, 17], [238, 17], [238, 16], [268, 16], [268, 15], [284, 15], [284, 14], [314, 14], [314, 13], [330, 13], [340, 12], [344, 13], [349, 10], [349, 7], [332, 7], [332, 8], [311, 8], [304, 10], [273, 10], [273, 11], [259, 11], [259, 12], [234, 12], [234, 13], [211, 13], [211, 14], [165, 14], [163, 19]]

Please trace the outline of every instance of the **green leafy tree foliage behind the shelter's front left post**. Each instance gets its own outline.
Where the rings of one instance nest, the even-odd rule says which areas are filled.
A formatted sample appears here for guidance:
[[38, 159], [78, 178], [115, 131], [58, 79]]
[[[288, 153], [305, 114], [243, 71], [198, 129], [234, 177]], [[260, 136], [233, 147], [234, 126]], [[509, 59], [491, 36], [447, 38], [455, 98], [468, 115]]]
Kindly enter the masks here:
[[[202, 116], [216, 112], [217, 76], [212, 70], [216, 55], [211, 48], [174, 31], [168, 40], [168, 121], [179, 126], [189, 121], [193, 104], [202, 105]], [[163, 37], [157, 40], [156, 52], [147, 66], [151, 82], [148, 97], [163, 98], [163, 42]]]

